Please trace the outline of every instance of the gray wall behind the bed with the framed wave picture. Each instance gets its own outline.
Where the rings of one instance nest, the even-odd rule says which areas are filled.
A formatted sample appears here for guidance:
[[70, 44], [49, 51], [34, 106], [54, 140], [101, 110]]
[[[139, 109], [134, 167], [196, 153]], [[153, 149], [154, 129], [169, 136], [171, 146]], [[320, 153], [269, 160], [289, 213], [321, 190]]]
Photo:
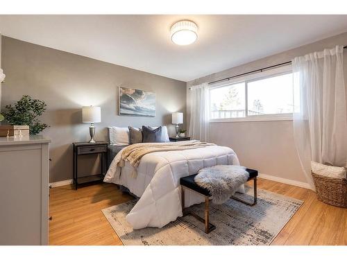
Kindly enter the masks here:
[[[101, 106], [96, 140], [108, 140], [107, 126], [171, 125], [172, 112], [186, 111], [186, 83], [121, 67], [2, 36], [2, 108], [22, 95], [47, 103], [42, 121], [50, 128], [42, 132], [52, 139], [50, 182], [72, 178], [72, 145], [89, 140], [89, 124], [82, 123], [83, 105]], [[155, 57], [153, 57], [155, 59]], [[164, 64], [163, 64], [164, 66]], [[119, 116], [118, 87], [135, 87], [156, 93], [156, 116]], [[186, 118], [185, 118], [186, 121]], [[185, 127], [185, 125], [183, 125]], [[81, 162], [81, 171], [98, 171], [96, 158]]]

